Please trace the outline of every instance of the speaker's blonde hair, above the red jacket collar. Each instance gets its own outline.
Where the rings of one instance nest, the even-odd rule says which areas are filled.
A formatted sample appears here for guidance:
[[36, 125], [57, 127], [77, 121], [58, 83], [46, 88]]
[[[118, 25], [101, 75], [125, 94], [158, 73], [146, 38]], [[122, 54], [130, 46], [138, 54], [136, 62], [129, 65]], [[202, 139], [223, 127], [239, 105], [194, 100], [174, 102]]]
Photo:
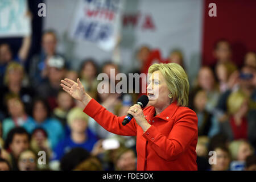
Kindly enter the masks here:
[[160, 71], [166, 79], [168, 89], [170, 90], [174, 101], [177, 100], [177, 105], [187, 106], [189, 82], [184, 69], [176, 63], [160, 63], [152, 64], [150, 68], [148, 68], [148, 73], [153, 73], [155, 71]]

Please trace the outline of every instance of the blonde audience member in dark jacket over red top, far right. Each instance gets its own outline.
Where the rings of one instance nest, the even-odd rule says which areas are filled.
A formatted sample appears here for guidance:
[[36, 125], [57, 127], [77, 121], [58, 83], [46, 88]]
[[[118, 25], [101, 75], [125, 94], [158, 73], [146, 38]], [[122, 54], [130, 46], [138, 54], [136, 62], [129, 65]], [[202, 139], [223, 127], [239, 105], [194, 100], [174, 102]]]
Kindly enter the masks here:
[[229, 140], [245, 139], [252, 144], [256, 140], [256, 112], [249, 109], [248, 99], [242, 92], [234, 92], [228, 98], [228, 121], [221, 122], [221, 133]]

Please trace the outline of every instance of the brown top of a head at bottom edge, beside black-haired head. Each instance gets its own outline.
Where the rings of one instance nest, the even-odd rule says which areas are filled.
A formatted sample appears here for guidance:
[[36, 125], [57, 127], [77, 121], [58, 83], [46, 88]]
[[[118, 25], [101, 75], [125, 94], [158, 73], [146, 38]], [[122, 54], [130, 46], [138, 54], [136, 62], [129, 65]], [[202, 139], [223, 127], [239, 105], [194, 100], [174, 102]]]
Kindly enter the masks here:
[[73, 169], [74, 171], [102, 171], [102, 164], [96, 157], [89, 157]]

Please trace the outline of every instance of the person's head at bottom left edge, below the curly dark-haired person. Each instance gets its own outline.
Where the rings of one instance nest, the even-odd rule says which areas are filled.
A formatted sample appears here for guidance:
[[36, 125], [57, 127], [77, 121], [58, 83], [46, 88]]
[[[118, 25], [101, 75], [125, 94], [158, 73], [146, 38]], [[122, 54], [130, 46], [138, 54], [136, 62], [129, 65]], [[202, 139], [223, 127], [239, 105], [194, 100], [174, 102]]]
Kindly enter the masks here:
[[31, 150], [25, 150], [20, 153], [18, 159], [19, 171], [37, 171], [37, 163], [36, 154]]

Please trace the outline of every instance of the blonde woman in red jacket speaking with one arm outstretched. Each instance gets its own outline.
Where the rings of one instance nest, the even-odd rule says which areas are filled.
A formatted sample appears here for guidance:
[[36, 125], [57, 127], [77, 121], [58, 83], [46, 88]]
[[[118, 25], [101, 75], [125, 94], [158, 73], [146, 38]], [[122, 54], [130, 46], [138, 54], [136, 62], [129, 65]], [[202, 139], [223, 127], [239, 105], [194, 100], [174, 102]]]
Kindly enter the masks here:
[[[110, 113], [85, 93], [79, 80], [61, 80], [63, 90], [85, 105], [84, 112], [106, 130], [137, 136], [137, 170], [197, 170], [197, 116], [188, 105], [189, 82], [176, 63], [153, 64], [147, 86], [148, 106], [135, 104], [128, 113], [133, 119]], [[156, 92], [158, 91], [158, 92]]]

